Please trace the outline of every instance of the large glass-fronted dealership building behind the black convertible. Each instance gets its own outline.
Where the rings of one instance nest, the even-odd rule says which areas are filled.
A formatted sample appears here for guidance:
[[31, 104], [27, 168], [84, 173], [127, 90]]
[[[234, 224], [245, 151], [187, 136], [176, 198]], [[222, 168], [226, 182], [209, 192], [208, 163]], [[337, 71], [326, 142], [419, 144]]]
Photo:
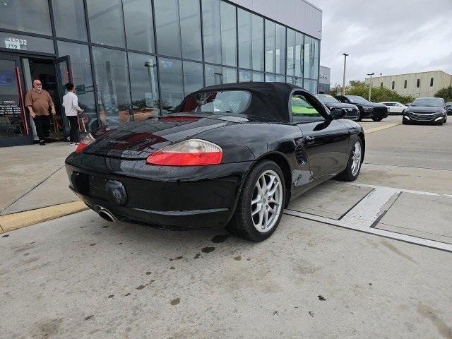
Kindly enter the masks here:
[[82, 132], [167, 114], [206, 85], [283, 81], [319, 87], [322, 11], [304, 0], [1, 0], [0, 147], [35, 126], [23, 97], [39, 79], [64, 140], [64, 83]]

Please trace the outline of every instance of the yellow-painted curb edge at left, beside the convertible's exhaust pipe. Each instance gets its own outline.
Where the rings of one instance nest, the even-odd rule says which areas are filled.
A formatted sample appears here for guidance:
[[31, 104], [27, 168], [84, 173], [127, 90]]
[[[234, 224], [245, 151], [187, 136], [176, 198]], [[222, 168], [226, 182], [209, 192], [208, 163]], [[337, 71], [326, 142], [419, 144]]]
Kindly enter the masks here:
[[37, 208], [36, 210], [0, 215], [0, 234], [61, 218], [83, 210], [88, 210], [85, 203], [83, 201], [74, 201], [72, 203], [61, 203], [60, 205]]

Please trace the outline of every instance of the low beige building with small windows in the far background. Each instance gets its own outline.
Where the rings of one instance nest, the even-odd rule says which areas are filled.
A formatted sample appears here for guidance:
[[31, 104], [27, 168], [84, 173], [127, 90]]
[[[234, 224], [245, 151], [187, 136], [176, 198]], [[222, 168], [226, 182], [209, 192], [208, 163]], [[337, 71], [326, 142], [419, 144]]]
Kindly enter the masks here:
[[[433, 85], [431, 79], [433, 78]], [[417, 81], [420, 81], [419, 87]], [[406, 88], [405, 88], [406, 81]], [[400, 95], [411, 95], [412, 97], [433, 97], [436, 92], [452, 85], [452, 76], [443, 71], [431, 71], [421, 73], [399, 74], [396, 76], [378, 76], [372, 78], [373, 87], [387, 87], [393, 89]], [[366, 79], [369, 83], [369, 78]]]

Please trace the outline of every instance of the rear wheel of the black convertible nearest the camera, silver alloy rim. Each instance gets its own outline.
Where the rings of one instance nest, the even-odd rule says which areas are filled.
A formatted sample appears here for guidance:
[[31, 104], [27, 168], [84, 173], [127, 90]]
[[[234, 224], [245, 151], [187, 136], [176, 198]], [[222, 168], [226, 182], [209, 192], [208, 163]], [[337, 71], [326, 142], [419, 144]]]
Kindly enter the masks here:
[[[275, 201], [278, 201], [280, 205], [277, 206], [275, 203], [267, 200], [268, 196], [266, 196], [266, 194], [261, 194], [261, 196], [266, 197], [265, 201], [263, 202], [261, 199], [261, 208], [258, 209], [259, 203], [253, 203], [253, 201], [259, 199], [258, 186], [263, 186], [262, 180], [265, 180], [266, 184], [269, 184], [271, 179], [273, 178], [274, 182], [273, 186], [270, 186], [270, 191], [275, 189], [276, 195], [273, 195], [273, 198]], [[278, 184], [275, 184], [276, 182], [278, 182]], [[268, 191], [268, 186], [265, 186], [265, 189]], [[265, 224], [265, 211], [267, 208], [267, 203], [268, 208], [276, 208], [278, 213], [275, 213], [274, 215], [272, 213], [270, 219], [268, 219], [270, 211], [267, 210], [268, 229], [266, 230], [264, 227], [259, 227], [261, 230], [258, 230], [258, 225], [256, 225], [256, 223], [259, 224], [261, 218], [261, 225]], [[270, 204], [273, 204], [273, 206], [270, 206]], [[251, 208], [254, 208], [253, 206], [256, 206], [255, 210], [263, 211], [262, 217], [260, 212], [251, 215]], [[227, 230], [236, 237], [250, 240], [251, 242], [262, 242], [263, 240], [268, 239], [268, 237], [270, 237], [270, 235], [275, 232], [283, 215], [284, 206], [285, 181], [283, 171], [278, 165], [276, 165], [275, 162], [270, 160], [263, 160], [262, 162], [259, 162], [253, 169], [251, 169], [251, 172], [249, 172], [248, 176], [246, 177], [242, 191], [239, 194], [237, 208], [235, 209], [234, 215], [232, 215], [232, 219], [227, 225]], [[273, 220], [271, 218], [273, 218]]]

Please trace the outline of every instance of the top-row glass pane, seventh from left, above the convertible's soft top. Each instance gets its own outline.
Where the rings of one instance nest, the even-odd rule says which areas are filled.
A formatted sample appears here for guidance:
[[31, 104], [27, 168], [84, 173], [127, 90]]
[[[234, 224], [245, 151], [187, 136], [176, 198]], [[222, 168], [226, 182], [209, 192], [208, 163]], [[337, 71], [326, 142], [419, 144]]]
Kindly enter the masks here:
[[204, 60], [221, 64], [220, 0], [203, 0]]

